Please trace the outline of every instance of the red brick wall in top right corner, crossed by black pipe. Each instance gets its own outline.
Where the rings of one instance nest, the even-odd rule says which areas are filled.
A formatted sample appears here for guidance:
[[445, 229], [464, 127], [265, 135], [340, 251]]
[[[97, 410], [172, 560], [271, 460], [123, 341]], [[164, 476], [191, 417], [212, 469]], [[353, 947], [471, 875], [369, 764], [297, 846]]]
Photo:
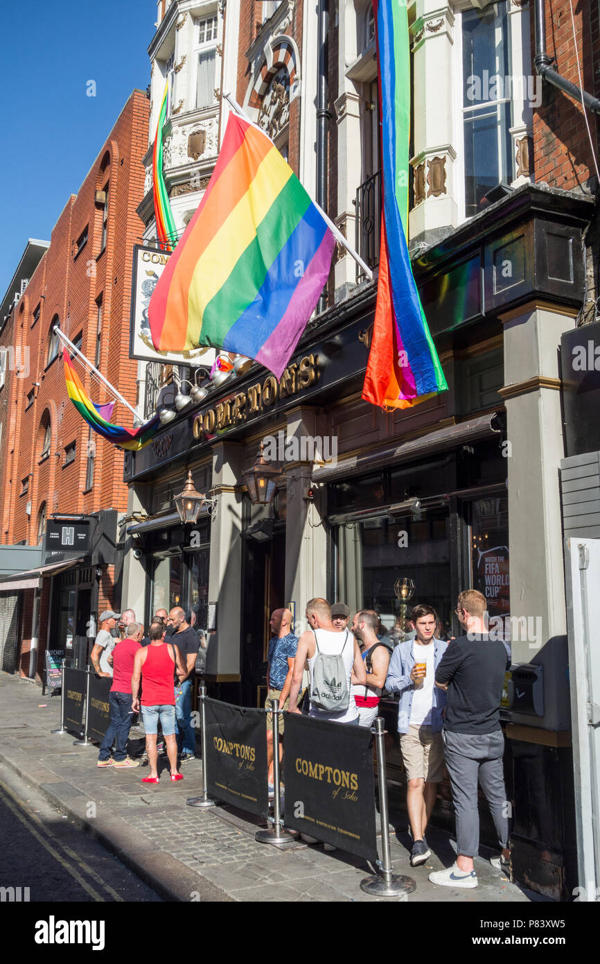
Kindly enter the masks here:
[[[579, 86], [571, 13], [565, 0], [546, 0], [546, 49], [556, 59], [554, 69]], [[597, 96], [600, 88], [600, 25], [598, 4], [573, 4], [584, 89]], [[532, 11], [532, 63], [535, 57], [535, 16]], [[594, 151], [598, 151], [597, 120], [587, 114]], [[534, 116], [535, 181], [564, 190], [584, 188], [595, 174], [581, 103], [544, 83], [541, 106]]]

